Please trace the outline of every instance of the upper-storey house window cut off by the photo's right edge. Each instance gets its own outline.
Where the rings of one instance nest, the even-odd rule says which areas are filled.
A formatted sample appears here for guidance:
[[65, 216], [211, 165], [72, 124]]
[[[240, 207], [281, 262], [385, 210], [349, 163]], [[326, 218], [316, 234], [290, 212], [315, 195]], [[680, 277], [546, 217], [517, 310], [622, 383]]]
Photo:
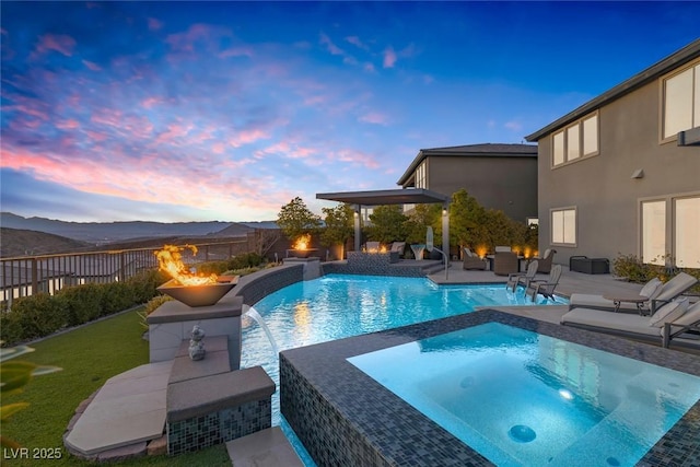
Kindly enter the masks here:
[[700, 63], [663, 81], [662, 139], [700, 127]]

